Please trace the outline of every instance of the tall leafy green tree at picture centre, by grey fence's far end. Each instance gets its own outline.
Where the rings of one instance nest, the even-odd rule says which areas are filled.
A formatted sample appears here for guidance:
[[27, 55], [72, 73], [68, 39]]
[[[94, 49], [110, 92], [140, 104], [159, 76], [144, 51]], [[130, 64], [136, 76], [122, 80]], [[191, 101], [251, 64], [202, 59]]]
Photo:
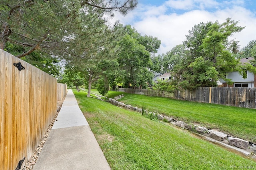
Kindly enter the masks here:
[[153, 53], [156, 53], [161, 41], [152, 36], [141, 36], [130, 25], [125, 26], [125, 31], [126, 35], [118, 42], [121, 48], [118, 63], [126, 71], [124, 87], [146, 88], [152, 83], [151, 71], [161, 68], [160, 65], [153, 65], [159, 62]]

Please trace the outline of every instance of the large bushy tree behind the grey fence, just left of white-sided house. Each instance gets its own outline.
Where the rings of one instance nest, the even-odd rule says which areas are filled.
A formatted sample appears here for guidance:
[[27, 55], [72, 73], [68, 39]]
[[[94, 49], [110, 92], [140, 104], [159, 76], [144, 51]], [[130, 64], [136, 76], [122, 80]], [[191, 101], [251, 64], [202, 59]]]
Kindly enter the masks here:
[[[219, 79], [230, 81], [226, 79], [227, 72], [242, 70], [230, 50], [234, 41], [228, 41], [232, 34], [244, 28], [238, 26], [238, 23], [227, 18], [222, 24], [218, 21], [200, 23], [189, 31], [187, 40], [183, 42], [185, 50], [180, 50], [182, 53], [177, 56], [172, 51], [169, 54], [173, 58], [166, 57], [173, 59], [168, 62], [172, 64], [166, 68], [173, 70], [179, 87], [194, 89], [200, 86], [216, 86]], [[181, 56], [183, 57], [179, 59]]]

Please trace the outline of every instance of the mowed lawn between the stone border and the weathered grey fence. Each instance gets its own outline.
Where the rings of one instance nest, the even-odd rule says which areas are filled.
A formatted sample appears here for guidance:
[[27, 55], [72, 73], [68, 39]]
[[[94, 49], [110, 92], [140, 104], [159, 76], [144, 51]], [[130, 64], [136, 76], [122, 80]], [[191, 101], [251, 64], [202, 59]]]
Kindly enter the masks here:
[[123, 103], [142, 107], [158, 114], [174, 117], [186, 123], [198, 123], [209, 129], [217, 129], [230, 136], [256, 143], [256, 110], [241, 107], [181, 101], [110, 91], [106, 96], [124, 94]]

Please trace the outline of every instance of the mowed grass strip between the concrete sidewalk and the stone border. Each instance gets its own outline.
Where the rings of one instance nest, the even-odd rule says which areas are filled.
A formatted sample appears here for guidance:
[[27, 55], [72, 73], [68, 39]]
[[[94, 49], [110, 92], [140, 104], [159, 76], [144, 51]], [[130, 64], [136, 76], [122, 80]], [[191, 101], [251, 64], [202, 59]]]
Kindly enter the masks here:
[[113, 170], [222, 170], [256, 162], [196, 138], [191, 132], [151, 121], [140, 113], [73, 91]]

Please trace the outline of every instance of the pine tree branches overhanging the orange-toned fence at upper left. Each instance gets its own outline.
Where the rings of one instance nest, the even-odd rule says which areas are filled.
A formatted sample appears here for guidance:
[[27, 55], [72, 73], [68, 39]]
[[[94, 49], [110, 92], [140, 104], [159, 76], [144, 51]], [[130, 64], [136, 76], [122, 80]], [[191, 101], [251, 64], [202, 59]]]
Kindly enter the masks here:
[[[67, 42], [86, 28], [81, 21], [94, 22], [102, 13], [112, 15], [113, 11], [127, 14], [136, 4], [136, 0], [1, 0], [0, 48], [9, 41], [26, 47], [17, 57], [36, 49], [56, 56], [75, 55]], [[90, 31], [87, 34], [94, 34]]]

